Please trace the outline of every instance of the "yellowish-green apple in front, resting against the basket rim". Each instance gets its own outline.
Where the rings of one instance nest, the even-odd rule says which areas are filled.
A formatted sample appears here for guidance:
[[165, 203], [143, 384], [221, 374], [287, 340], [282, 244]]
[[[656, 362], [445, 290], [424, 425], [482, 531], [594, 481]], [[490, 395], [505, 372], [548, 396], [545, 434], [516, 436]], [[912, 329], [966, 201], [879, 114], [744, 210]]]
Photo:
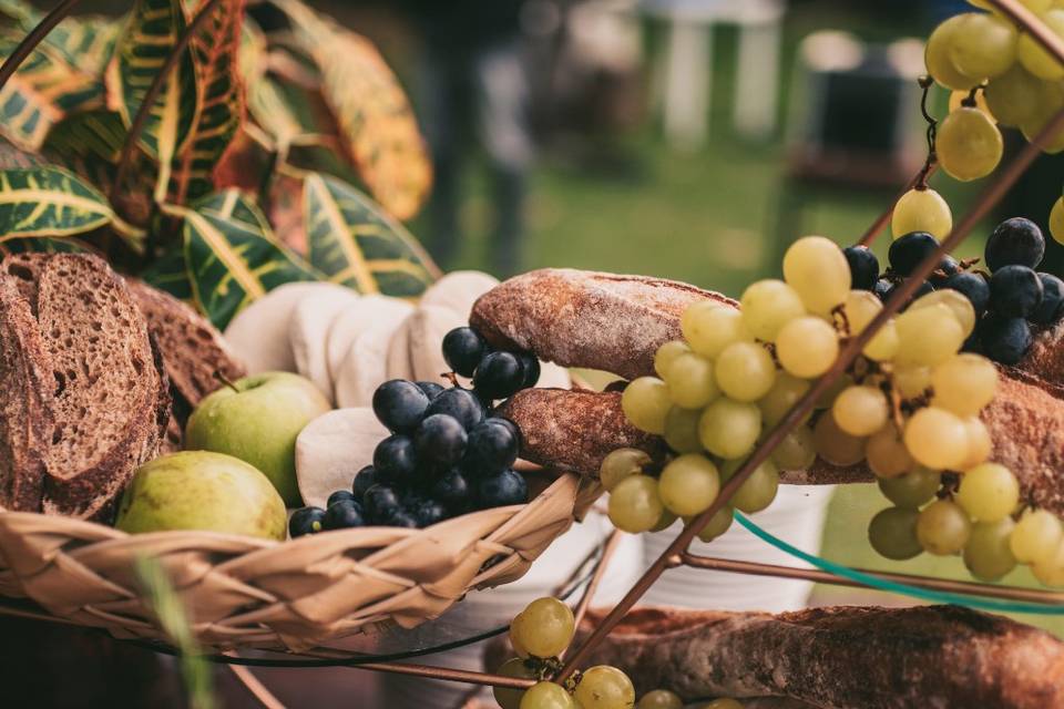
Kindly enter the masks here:
[[285, 540], [285, 502], [244, 461], [203, 451], [145, 463], [122, 495], [117, 528], [139, 534], [204, 530]]

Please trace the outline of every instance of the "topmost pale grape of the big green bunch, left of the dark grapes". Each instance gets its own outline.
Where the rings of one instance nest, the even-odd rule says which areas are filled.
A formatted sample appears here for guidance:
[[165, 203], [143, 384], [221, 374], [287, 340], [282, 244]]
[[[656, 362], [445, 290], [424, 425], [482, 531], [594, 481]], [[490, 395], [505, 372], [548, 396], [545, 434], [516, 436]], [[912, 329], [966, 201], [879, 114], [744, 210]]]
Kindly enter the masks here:
[[784, 280], [806, 310], [827, 315], [850, 291], [850, 266], [842, 249], [822, 236], [805, 236], [784, 254]]

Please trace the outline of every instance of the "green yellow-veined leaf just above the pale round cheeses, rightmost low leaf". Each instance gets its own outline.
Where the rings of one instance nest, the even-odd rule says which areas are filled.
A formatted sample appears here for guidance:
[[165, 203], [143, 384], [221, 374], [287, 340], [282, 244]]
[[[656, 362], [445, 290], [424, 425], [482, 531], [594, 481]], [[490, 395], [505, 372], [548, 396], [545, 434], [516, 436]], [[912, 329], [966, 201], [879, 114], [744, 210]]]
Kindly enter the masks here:
[[304, 182], [307, 256], [332, 282], [413, 297], [439, 268], [401, 224], [355, 187], [311, 173]]

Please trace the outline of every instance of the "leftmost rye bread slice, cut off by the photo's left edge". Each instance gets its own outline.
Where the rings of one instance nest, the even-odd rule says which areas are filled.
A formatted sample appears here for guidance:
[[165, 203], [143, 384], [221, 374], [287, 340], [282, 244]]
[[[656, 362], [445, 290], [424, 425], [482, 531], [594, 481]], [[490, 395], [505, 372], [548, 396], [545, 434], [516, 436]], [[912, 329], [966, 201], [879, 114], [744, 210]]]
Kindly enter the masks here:
[[0, 507], [39, 512], [53, 421], [51, 371], [30, 304], [0, 275]]

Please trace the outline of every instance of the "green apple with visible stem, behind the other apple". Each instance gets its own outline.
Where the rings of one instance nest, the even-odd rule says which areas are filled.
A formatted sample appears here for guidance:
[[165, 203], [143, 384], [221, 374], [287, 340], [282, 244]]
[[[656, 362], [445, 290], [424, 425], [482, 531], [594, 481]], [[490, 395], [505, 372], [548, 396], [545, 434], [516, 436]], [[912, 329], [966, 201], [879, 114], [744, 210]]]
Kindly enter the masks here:
[[260, 470], [295, 507], [296, 438], [332, 407], [307, 379], [288, 372], [245, 377], [206, 397], [188, 418], [185, 449], [226, 453]]

